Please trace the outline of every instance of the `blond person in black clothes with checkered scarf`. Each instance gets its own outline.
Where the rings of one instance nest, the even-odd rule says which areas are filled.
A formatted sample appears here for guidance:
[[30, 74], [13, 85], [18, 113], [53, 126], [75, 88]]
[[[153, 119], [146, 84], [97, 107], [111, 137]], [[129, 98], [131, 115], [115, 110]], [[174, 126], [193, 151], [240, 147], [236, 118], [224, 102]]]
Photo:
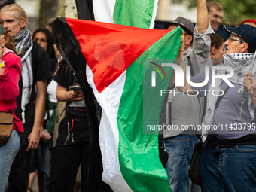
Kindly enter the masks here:
[[8, 191], [26, 192], [31, 150], [35, 150], [39, 145], [50, 66], [47, 53], [32, 41], [31, 32], [26, 29], [28, 17], [20, 5], [11, 4], [1, 8], [0, 19], [8, 34], [14, 38], [23, 69], [15, 114], [22, 120], [24, 133], [20, 135], [20, 150], [11, 166]]

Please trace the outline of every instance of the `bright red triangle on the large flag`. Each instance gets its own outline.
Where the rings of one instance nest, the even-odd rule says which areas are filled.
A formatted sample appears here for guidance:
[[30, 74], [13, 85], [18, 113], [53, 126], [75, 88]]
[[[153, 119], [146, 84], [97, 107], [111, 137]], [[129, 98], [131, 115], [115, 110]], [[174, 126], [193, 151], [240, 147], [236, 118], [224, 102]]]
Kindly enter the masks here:
[[66, 18], [77, 38], [99, 93], [169, 30], [141, 29]]

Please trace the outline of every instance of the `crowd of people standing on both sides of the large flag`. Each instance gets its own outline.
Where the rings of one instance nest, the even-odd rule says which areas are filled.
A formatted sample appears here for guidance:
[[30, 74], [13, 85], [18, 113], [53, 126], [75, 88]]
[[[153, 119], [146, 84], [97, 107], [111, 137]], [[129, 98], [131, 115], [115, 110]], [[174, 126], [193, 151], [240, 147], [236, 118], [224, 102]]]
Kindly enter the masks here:
[[[223, 15], [218, 2], [197, 0], [195, 26], [184, 17], [164, 26], [183, 29], [177, 57], [181, 62], [176, 64], [184, 70], [184, 87], [173, 88], [170, 83], [175, 92], [166, 97], [162, 111], [164, 123], [178, 129], [160, 132], [169, 154], [166, 173], [173, 192], [256, 189], [255, 67], [249, 72], [255, 59], [256, 21], [245, 20], [236, 27], [224, 25], [230, 34], [224, 42], [215, 34]], [[31, 192], [35, 175], [40, 192], [73, 191], [80, 164], [81, 191], [111, 191], [101, 181], [101, 172], [90, 172], [86, 103], [75, 73], [64, 59], [59, 60], [50, 26], [32, 35], [26, 29], [26, 12], [17, 4], [1, 8], [0, 19], [4, 26], [0, 36], [0, 111], [14, 115], [11, 137], [0, 146], [0, 192]], [[188, 68], [194, 84], [187, 81]], [[212, 81], [213, 75], [230, 73], [233, 76], [228, 80]], [[209, 81], [202, 85], [206, 74]], [[170, 82], [173, 78], [175, 74]], [[178, 92], [187, 95], [174, 94]], [[217, 92], [221, 96], [213, 94]], [[66, 107], [53, 148], [58, 101], [66, 102]], [[222, 129], [199, 131], [197, 126], [202, 123]], [[181, 129], [184, 125], [190, 129]], [[188, 178], [194, 146], [200, 139], [202, 186]], [[102, 171], [100, 159], [96, 164]]]

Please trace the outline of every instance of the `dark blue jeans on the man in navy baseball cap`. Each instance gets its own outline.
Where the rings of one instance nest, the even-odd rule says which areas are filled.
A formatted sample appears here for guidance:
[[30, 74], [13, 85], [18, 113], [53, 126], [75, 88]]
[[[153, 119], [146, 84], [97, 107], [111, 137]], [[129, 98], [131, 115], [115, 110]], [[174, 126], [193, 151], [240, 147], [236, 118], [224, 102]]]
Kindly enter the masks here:
[[203, 146], [200, 170], [204, 192], [255, 192], [256, 145], [234, 145], [212, 152]]

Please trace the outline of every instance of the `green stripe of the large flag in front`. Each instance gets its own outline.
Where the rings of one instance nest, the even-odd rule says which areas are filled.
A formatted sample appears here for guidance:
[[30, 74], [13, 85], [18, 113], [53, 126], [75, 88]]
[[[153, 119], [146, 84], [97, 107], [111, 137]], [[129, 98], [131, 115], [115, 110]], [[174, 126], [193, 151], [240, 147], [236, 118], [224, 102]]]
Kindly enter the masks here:
[[182, 29], [177, 28], [160, 38], [126, 71], [117, 113], [118, 155], [123, 178], [133, 191], [171, 191], [166, 170], [159, 159], [158, 132], [144, 134], [143, 129], [148, 123], [159, 123], [164, 99], [164, 96], [160, 96], [160, 90], [167, 89], [172, 68], [163, 67], [168, 81], [160, 78], [161, 83], [151, 87], [152, 68], [145, 59], [170, 58], [175, 61], [181, 32]]

